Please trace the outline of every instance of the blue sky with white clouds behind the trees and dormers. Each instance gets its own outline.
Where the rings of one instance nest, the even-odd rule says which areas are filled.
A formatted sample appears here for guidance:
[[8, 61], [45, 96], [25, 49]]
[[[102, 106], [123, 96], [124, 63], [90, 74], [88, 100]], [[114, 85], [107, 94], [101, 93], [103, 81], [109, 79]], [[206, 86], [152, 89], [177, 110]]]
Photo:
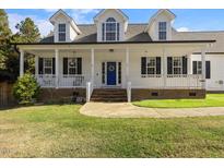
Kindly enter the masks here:
[[[25, 17], [31, 17], [38, 26], [42, 36], [52, 29], [49, 17], [57, 9], [20, 9], [5, 10], [9, 16], [10, 28], [16, 32], [15, 25]], [[98, 9], [68, 9], [64, 10], [78, 24], [93, 23], [93, 17], [101, 11]], [[129, 23], [149, 23], [150, 17], [157, 11], [155, 9], [122, 9], [129, 16]], [[224, 10], [170, 10], [176, 14], [174, 27], [177, 31], [224, 31]]]

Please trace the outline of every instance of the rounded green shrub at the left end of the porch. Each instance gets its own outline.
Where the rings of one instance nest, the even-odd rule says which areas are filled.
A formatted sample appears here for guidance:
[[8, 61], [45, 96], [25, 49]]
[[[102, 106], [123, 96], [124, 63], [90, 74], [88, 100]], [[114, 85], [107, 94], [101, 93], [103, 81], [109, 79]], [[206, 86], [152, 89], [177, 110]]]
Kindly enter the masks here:
[[39, 85], [36, 79], [25, 73], [19, 77], [13, 86], [13, 95], [20, 104], [32, 104], [38, 97]]

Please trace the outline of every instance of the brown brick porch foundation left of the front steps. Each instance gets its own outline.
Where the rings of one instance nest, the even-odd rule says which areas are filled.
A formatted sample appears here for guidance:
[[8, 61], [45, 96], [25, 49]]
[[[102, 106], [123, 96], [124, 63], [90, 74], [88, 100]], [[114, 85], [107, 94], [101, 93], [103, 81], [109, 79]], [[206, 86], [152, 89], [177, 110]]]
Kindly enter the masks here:
[[59, 103], [69, 101], [73, 93], [78, 92], [79, 97], [85, 100], [85, 88], [42, 88], [38, 101], [40, 103]]

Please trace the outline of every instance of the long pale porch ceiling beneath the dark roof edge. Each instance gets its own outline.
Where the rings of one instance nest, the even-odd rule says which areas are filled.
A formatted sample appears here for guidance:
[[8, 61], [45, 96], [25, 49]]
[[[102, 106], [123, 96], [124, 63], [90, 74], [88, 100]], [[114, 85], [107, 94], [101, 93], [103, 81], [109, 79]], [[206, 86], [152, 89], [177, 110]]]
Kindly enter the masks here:
[[144, 52], [145, 55], [160, 55], [163, 56], [182, 56], [190, 55], [192, 52], [201, 52], [202, 49], [209, 51], [210, 44], [205, 43], [187, 43], [187, 44], [141, 44], [141, 45], [87, 45], [87, 46], [72, 46], [72, 45], [22, 45], [17, 46], [20, 49], [25, 50], [26, 52], [37, 55], [40, 52], [55, 52], [55, 49], [59, 49], [60, 52], [90, 52], [94, 48], [95, 53], [97, 52], [126, 52], [126, 49], [129, 49], [129, 52]]

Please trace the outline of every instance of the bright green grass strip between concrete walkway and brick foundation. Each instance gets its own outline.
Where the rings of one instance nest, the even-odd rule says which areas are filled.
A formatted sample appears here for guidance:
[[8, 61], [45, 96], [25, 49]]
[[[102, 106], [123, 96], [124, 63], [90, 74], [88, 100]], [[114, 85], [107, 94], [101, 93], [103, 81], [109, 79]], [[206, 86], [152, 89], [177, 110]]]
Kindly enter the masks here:
[[224, 107], [224, 94], [208, 94], [205, 99], [149, 99], [133, 105], [151, 108]]

